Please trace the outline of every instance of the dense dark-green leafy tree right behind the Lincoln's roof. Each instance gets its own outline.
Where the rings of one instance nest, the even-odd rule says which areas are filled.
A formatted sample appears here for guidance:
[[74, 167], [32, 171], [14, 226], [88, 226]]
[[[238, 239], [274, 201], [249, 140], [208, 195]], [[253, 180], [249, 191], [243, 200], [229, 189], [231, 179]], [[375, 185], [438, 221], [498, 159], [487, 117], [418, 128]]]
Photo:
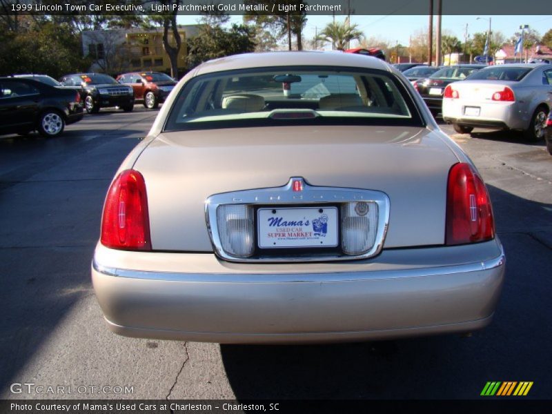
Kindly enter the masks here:
[[233, 24], [230, 29], [201, 25], [197, 36], [188, 39], [188, 69], [217, 57], [255, 50], [255, 28]]

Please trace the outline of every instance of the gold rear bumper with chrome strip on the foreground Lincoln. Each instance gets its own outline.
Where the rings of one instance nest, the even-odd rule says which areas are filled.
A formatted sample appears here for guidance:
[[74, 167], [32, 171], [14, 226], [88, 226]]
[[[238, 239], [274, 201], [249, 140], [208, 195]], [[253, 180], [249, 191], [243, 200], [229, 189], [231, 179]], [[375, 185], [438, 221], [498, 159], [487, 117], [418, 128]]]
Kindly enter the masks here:
[[[290, 343], [465, 332], [491, 322], [504, 253], [493, 240], [476, 246], [486, 259], [462, 263], [464, 253], [477, 251], [464, 247], [384, 251], [333, 266], [230, 264], [214, 255], [98, 246], [92, 282], [110, 329], [131, 337]], [[148, 270], [113, 266], [119, 254], [120, 264], [134, 256]], [[162, 256], [164, 265], [156, 264]], [[175, 271], [182, 260], [187, 271]]]

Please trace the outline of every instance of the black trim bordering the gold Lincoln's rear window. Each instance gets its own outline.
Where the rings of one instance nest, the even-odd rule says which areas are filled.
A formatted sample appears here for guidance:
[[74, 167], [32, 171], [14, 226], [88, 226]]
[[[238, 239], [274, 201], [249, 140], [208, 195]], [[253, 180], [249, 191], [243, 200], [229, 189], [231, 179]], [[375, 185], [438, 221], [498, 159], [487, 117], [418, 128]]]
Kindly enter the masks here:
[[[357, 72], [362, 74], [373, 74], [379, 76], [388, 77], [394, 84], [395, 88], [400, 92], [402, 99], [406, 107], [411, 113], [411, 117], [408, 119], [393, 118], [390, 122], [389, 118], [385, 117], [366, 117], [366, 118], [351, 118], [351, 117], [317, 117], [316, 119], [297, 119], [282, 121], [280, 119], [248, 119], [246, 121], [229, 121], [226, 123], [221, 122], [202, 122], [201, 124], [190, 123], [190, 124], [177, 124], [175, 121], [176, 112], [178, 108], [174, 105], [179, 98], [190, 92], [191, 87], [198, 81], [203, 81], [205, 79], [213, 77], [224, 77], [231, 75], [240, 75], [250, 73], [252, 71], [257, 72], [273, 72], [275, 70], [286, 70], [289, 72], [293, 71], [333, 71], [335, 74], [339, 72]], [[213, 125], [214, 124], [214, 125]], [[395, 73], [386, 70], [372, 69], [372, 68], [359, 68], [359, 67], [350, 67], [350, 66], [322, 66], [322, 65], [295, 65], [295, 66], [263, 66], [263, 67], [252, 67], [252, 68], [241, 68], [233, 70], [221, 70], [217, 72], [208, 72], [202, 75], [195, 76], [191, 78], [186, 84], [179, 90], [177, 97], [173, 101], [173, 106], [170, 108], [168, 115], [165, 119], [163, 128], [161, 132], [183, 132], [188, 130], [213, 130], [213, 129], [228, 129], [228, 128], [258, 128], [259, 126], [324, 126], [324, 125], [339, 125], [339, 126], [356, 126], [356, 125], [365, 125], [365, 126], [414, 126], [418, 128], [425, 128], [426, 122], [421, 115], [420, 109], [417, 107], [415, 98], [412, 96], [410, 90], [406, 87], [402, 79], [395, 75]]]

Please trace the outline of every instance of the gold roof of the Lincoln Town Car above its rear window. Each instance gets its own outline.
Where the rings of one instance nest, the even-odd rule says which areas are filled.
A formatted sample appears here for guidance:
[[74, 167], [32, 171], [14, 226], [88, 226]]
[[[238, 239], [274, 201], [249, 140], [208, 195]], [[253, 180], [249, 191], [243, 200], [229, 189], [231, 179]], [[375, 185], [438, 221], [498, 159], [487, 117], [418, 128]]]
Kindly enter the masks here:
[[344, 66], [354, 68], [380, 69], [391, 72], [391, 66], [378, 59], [356, 53], [345, 52], [259, 52], [244, 53], [207, 61], [197, 67], [195, 75], [224, 70], [286, 66]]

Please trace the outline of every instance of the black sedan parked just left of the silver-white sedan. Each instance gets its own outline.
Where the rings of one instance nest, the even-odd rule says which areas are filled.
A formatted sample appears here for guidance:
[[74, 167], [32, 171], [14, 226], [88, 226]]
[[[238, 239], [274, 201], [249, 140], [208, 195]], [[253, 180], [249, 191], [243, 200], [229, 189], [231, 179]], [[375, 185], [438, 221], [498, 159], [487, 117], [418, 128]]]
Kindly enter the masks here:
[[433, 75], [416, 82], [416, 89], [422, 95], [426, 105], [433, 115], [441, 112], [443, 105], [443, 93], [449, 83], [466, 79], [473, 72], [484, 68], [484, 65], [457, 65], [446, 66], [437, 70]]

